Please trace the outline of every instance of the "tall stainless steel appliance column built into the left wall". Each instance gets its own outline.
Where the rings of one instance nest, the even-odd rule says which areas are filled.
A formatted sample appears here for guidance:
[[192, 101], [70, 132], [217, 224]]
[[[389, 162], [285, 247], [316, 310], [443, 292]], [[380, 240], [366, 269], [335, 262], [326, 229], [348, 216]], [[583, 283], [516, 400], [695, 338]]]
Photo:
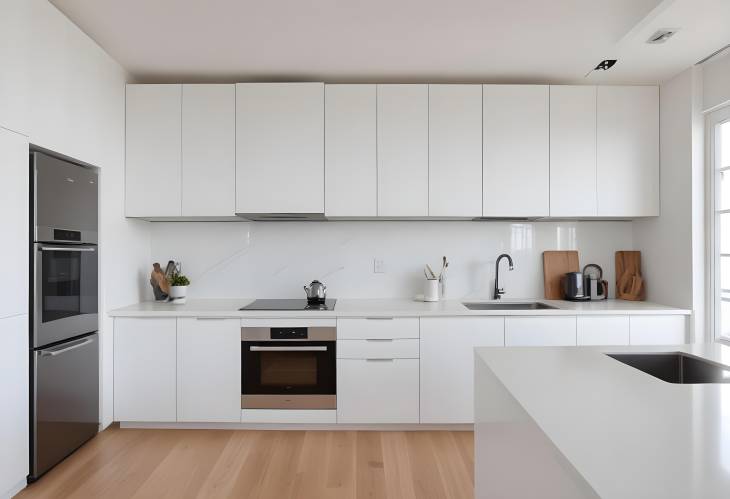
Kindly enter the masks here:
[[31, 152], [30, 474], [99, 429], [98, 175]]

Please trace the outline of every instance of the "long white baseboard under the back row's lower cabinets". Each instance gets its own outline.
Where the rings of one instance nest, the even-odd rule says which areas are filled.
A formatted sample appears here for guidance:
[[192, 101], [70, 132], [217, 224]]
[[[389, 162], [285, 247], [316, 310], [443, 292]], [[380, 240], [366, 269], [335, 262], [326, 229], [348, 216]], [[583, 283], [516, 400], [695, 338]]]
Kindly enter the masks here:
[[122, 421], [119, 426], [120, 428], [157, 430], [474, 431], [473, 424], [152, 423]]

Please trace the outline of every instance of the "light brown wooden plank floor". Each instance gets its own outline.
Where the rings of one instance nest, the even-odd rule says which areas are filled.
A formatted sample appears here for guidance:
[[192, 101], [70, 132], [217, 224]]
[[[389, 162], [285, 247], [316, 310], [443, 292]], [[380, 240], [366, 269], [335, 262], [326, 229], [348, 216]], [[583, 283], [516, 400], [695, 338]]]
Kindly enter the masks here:
[[18, 496], [473, 497], [474, 434], [137, 430], [116, 425]]

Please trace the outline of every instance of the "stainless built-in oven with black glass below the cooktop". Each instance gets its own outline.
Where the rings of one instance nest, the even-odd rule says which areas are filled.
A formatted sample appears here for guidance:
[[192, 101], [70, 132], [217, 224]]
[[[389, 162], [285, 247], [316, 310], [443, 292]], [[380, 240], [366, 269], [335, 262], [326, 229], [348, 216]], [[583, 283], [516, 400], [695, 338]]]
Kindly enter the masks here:
[[241, 408], [336, 409], [337, 328], [242, 327]]

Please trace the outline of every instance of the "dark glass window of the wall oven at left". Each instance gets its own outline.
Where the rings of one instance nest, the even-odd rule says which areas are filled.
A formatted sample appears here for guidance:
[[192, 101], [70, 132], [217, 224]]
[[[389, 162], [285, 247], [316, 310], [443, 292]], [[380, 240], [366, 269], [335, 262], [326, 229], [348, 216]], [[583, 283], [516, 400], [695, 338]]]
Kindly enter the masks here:
[[50, 322], [97, 312], [95, 254], [42, 251], [41, 317]]

